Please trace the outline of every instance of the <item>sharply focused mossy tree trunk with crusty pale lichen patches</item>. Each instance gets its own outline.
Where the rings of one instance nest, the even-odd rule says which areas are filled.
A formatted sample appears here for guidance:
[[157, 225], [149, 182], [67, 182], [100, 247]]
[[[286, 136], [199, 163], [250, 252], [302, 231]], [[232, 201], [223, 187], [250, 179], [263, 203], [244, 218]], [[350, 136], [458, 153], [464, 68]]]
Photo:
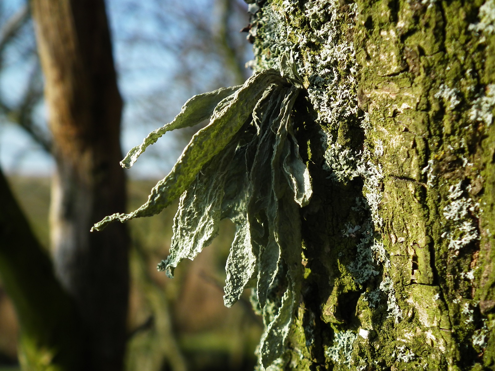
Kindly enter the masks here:
[[254, 69], [291, 55], [307, 89], [314, 194], [283, 369], [495, 370], [495, 2], [482, 5], [267, 1], [252, 17]]

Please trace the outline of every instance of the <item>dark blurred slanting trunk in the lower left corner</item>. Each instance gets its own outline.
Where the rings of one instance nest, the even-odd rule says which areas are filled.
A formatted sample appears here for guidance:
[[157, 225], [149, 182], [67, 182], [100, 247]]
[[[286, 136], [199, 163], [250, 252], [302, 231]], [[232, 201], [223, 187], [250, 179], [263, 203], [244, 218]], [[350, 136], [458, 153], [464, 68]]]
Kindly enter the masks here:
[[1, 171], [0, 204], [0, 277], [20, 323], [23, 370], [88, 370], [76, 306], [55, 278]]

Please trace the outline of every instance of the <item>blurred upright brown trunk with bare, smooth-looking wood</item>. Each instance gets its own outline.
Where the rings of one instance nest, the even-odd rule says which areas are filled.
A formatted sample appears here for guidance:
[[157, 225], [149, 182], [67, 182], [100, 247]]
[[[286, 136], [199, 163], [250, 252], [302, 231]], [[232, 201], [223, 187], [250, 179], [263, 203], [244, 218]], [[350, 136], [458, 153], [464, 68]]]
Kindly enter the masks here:
[[54, 267], [89, 332], [91, 370], [121, 370], [126, 341], [125, 211], [119, 166], [122, 100], [103, 0], [32, 0], [56, 174], [50, 210]]

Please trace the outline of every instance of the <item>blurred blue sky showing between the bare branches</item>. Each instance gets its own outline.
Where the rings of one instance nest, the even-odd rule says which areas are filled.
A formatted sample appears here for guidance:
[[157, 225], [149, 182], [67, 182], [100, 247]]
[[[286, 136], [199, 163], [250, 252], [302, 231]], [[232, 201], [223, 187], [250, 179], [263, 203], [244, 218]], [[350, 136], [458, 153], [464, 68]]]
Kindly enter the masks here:
[[[18, 9], [24, 1], [1, 0], [3, 17]], [[212, 0], [107, 0], [107, 12], [113, 39], [115, 64], [119, 76], [119, 88], [125, 101], [123, 112], [122, 150], [141, 143], [148, 132], [173, 119], [181, 104], [192, 94], [228, 84], [221, 63], [214, 57], [207, 60], [201, 52], [188, 55], [191, 64], [198, 63], [194, 86], [181, 84], [176, 76], [183, 66], [175, 55], [176, 50], [167, 43], [180, 45], [194, 38], [194, 30], [180, 16], [167, 14], [167, 6], [184, 6], [184, 11], [197, 10], [201, 21], [214, 21]], [[157, 5], [160, 4], [160, 5]], [[244, 6], [242, 1], [238, 4]], [[165, 9], [165, 10], [164, 10]], [[188, 10], [189, 9], [189, 10]], [[233, 19], [233, 29], [239, 30], [247, 22], [240, 16]], [[238, 24], [237, 24], [238, 23]], [[32, 27], [31, 27], [32, 32]], [[235, 35], [238, 38], [237, 35]], [[237, 39], [236, 39], [237, 40]], [[239, 39], [242, 40], [242, 39]], [[238, 41], [239, 42], [239, 41]], [[247, 43], [246, 43], [247, 44]], [[6, 63], [0, 74], [0, 91], [5, 99], [15, 101], [26, 86], [27, 77], [33, 69], [34, 59], [25, 57], [26, 47], [34, 47], [30, 29], [25, 31], [21, 42], [8, 49]], [[246, 45], [246, 60], [249, 46]], [[24, 54], [23, 54], [24, 53]], [[248, 72], [247, 72], [248, 75]], [[48, 113], [40, 104], [36, 109], [36, 122], [45, 126]], [[138, 178], [162, 178], [180, 155], [185, 139], [173, 133], [163, 136], [140, 161], [129, 170]], [[39, 147], [22, 129], [14, 124], [0, 123], [0, 166], [7, 173], [47, 176], [53, 170], [51, 157]]]

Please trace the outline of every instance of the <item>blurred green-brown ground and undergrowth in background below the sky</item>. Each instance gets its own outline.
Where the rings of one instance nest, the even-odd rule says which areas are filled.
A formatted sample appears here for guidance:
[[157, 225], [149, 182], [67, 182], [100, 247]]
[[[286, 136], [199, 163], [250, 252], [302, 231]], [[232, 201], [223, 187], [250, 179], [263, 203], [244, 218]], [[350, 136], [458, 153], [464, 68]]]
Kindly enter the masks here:
[[[9, 182], [35, 234], [48, 249], [49, 179], [12, 176]], [[155, 183], [129, 181], [128, 209], [143, 204]], [[247, 293], [230, 309], [224, 307], [222, 298], [235, 227], [225, 220], [212, 245], [194, 262], [184, 262], [176, 277], [169, 279], [156, 271], [156, 264], [168, 255], [176, 209], [177, 203], [153, 218], [128, 223], [132, 246], [126, 369], [252, 370], [262, 331], [260, 319], [252, 313]], [[0, 332], [0, 338], [6, 336], [15, 342], [15, 333]], [[0, 349], [0, 354], [8, 351]], [[0, 371], [17, 370], [1, 367]]]

